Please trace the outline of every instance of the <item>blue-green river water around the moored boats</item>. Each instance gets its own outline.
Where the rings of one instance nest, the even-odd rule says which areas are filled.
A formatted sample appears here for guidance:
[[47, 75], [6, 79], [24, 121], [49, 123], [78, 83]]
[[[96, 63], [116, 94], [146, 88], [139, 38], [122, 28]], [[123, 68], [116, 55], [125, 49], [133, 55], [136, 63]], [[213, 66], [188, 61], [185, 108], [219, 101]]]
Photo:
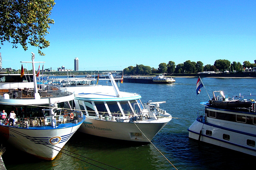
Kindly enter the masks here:
[[64, 146], [63, 153], [59, 153], [52, 161], [40, 160], [18, 150], [6, 148], [2, 155], [6, 168], [170, 170], [175, 169], [175, 166], [177, 169], [186, 170], [215, 170], [253, 167], [254, 156], [198, 143], [188, 138], [187, 129], [196, 119], [197, 111], [204, 109], [199, 102], [208, 101], [208, 94], [212, 98], [212, 91], [222, 90], [226, 96], [239, 93], [256, 95], [256, 79], [202, 78], [206, 89], [201, 88], [201, 93], [196, 96], [197, 79], [175, 78], [174, 84], [120, 83], [120, 91], [141, 94], [143, 103], [148, 100], [166, 101], [165, 104], [160, 104], [160, 108], [177, 118], [172, 119], [154, 137], [152, 144], [111, 140], [77, 132]]

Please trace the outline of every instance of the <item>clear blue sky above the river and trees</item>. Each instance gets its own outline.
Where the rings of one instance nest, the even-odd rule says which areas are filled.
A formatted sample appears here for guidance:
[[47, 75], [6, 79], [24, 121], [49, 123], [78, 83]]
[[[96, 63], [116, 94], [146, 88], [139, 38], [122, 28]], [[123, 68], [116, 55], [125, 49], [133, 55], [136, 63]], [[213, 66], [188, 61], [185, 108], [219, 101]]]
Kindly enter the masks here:
[[[256, 59], [255, 0], [56, 0], [55, 23], [40, 56], [32, 46], [1, 45], [2, 67], [20, 69], [20, 61], [45, 61], [74, 70], [122, 70], [143, 64], [227, 59], [243, 64]], [[31, 69], [28, 64], [28, 69]], [[24, 66], [25, 67], [25, 66]], [[42, 64], [40, 66], [42, 68]], [[36, 64], [38, 68], [38, 64]]]

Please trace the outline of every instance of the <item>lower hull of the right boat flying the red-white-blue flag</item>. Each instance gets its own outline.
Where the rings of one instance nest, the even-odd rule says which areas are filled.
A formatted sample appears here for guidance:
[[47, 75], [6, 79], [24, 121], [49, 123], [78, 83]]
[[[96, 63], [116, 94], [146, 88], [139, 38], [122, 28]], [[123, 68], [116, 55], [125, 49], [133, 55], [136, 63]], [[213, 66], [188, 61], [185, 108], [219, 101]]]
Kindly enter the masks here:
[[[200, 130], [202, 130], [201, 134]], [[206, 135], [206, 130], [212, 131], [212, 135]], [[217, 127], [198, 120], [194, 121], [194, 123], [188, 128], [188, 131], [188, 137], [191, 139], [200, 139], [202, 142], [256, 156], [256, 147], [247, 144], [247, 139], [256, 141], [256, 134], [254, 131], [251, 131], [251, 133], [245, 133], [223, 126]], [[229, 135], [230, 140], [224, 139], [223, 134]]]

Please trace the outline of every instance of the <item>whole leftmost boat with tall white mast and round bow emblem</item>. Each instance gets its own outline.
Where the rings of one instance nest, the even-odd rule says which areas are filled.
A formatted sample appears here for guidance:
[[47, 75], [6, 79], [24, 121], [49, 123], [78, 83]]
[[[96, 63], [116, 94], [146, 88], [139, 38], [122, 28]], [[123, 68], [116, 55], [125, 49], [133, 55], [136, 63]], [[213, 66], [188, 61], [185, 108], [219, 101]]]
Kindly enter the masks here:
[[8, 147], [53, 160], [86, 116], [74, 109], [73, 93], [48, 85], [38, 89], [34, 58], [22, 62], [32, 63], [33, 76], [0, 74], [0, 136]]

